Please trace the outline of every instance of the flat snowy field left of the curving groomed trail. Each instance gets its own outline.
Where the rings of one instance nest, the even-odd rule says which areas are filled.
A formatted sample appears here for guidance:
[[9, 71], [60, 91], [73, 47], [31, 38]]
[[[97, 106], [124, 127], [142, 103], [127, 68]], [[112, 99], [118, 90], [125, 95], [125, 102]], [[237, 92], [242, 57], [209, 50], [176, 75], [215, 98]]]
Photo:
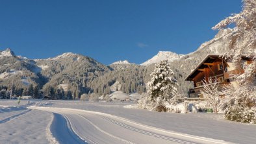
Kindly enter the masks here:
[[0, 143], [49, 143], [53, 114], [27, 109], [24, 102], [19, 108], [14, 102], [0, 105], [6, 103], [10, 106], [0, 106]]

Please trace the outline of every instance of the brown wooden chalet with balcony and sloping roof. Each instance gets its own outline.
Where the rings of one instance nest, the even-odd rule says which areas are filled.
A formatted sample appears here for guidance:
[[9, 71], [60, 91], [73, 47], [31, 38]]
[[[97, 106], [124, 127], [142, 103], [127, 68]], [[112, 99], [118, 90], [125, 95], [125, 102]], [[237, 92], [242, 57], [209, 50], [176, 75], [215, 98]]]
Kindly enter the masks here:
[[[250, 58], [242, 56], [243, 62], [250, 64]], [[202, 80], [209, 82], [210, 79], [218, 80], [218, 84], [225, 85], [230, 84], [231, 75], [244, 73], [244, 70], [238, 70], [233, 67], [230, 60], [224, 60], [220, 57], [220, 54], [209, 54], [206, 58], [194, 69], [185, 80], [192, 81], [194, 83], [194, 88], [188, 91], [189, 97], [201, 97], [201, 90], [203, 88]], [[220, 86], [222, 88], [222, 86]]]

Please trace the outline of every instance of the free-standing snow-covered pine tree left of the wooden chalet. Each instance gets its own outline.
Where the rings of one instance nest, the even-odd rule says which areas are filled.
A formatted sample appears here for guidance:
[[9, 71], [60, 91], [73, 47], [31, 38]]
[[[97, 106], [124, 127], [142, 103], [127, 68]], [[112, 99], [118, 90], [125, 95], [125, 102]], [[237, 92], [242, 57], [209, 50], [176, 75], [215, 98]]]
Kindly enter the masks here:
[[177, 93], [177, 80], [174, 78], [174, 73], [170, 69], [168, 60], [163, 60], [156, 64], [151, 77], [147, 93], [151, 97], [151, 101], [156, 104], [155, 110], [166, 112], [164, 102], [170, 102]]

